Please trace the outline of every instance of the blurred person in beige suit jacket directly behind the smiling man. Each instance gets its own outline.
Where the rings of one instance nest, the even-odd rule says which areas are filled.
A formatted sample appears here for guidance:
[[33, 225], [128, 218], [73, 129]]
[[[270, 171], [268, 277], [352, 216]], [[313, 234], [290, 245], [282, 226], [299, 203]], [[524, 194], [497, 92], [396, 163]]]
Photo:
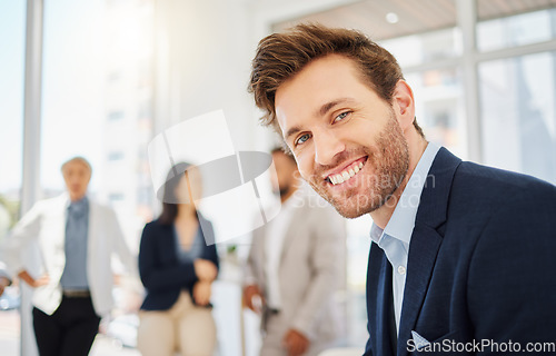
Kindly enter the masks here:
[[345, 284], [345, 222], [326, 202], [319, 206], [299, 188], [292, 156], [276, 148], [272, 160], [278, 178], [272, 189], [280, 196], [281, 210], [254, 231], [244, 300], [261, 314], [260, 355], [318, 355], [340, 332], [334, 296]]

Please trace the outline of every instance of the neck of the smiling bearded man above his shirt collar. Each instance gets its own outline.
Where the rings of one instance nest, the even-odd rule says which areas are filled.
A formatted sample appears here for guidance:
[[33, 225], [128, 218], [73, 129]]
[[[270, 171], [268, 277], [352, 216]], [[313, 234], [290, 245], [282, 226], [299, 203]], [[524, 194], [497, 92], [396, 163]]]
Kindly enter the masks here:
[[[404, 194], [404, 190], [406, 189], [407, 182], [409, 181], [409, 178], [411, 178], [411, 175], [415, 171], [415, 168], [417, 167], [417, 164], [419, 162], [423, 154], [425, 152], [425, 149], [427, 149], [428, 142], [425, 139], [420, 139], [416, 141], [416, 145], [414, 147], [417, 147], [417, 149], [409, 150], [409, 168], [407, 169], [406, 176], [404, 177], [404, 180], [399, 185], [399, 187], [394, 191], [394, 194], [388, 198], [388, 200], [378, 209], [375, 211], [370, 212], [370, 217], [373, 218], [373, 221], [383, 230], [386, 228], [388, 225], [388, 221], [390, 220], [394, 210], [396, 210], [396, 207], [398, 206], [399, 198]], [[411, 146], [410, 146], [411, 147]]]

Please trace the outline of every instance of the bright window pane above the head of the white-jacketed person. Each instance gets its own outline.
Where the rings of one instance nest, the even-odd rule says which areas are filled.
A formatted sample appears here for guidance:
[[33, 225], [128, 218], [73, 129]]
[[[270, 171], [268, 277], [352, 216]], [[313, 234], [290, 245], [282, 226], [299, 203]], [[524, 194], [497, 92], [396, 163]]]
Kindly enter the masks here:
[[91, 161], [90, 190], [98, 190], [103, 117], [102, 2], [44, 3], [41, 187], [60, 194], [61, 164], [83, 156]]

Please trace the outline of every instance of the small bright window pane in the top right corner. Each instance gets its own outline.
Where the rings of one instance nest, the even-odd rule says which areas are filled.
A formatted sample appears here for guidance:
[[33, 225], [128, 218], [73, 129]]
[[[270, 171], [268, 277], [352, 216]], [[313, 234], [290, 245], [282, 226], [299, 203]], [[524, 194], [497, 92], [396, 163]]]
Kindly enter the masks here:
[[479, 51], [548, 41], [556, 33], [556, 9], [520, 13], [477, 23]]

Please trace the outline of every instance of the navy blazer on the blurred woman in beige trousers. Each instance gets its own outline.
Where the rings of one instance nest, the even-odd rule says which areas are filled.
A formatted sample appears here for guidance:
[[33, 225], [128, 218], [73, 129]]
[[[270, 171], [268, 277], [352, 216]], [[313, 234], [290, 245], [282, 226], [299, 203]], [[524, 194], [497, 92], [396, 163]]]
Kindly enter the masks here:
[[[199, 220], [205, 228], [205, 241], [215, 241], [212, 225], [202, 216]], [[141, 305], [143, 310], [167, 310], [178, 300], [182, 289], [189, 290], [192, 297], [193, 285], [199, 280], [195, 274], [193, 263], [181, 263], [178, 259], [173, 236], [173, 225], [162, 225], [158, 220], [147, 224], [142, 230], [139, 248], [139, 274], [147, 289]], [[210, 234], [210, 236], [208, 236]], [[212, 261], [219, 267], [216, 245], [202, 244], [202, 259]]]

